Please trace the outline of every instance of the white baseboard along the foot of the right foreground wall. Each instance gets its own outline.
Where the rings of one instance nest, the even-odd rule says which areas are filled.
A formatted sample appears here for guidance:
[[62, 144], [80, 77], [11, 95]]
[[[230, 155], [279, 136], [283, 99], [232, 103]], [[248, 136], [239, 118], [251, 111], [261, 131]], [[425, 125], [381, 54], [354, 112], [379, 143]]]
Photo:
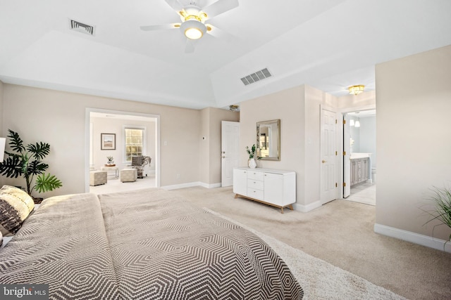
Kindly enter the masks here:
[[[446, 242], [445, 240], [436, 239], [428, 235], [420, 235], [418, 233], [412, 233], [411, 231], [377, 223], [374, 224], [374, 232], [381, 235], [387, 235], [389, 237], [395, 237], [400, 240], [405, 240], [407, 242], [413, 242], [414, 244], [421, 244], [422, 246], [437, 249], [440, 251], [443, 251], [443, 245]], [[447, 242], [447, 244], [445, 245], [445, 252], [451, 253], [451, 242]]]

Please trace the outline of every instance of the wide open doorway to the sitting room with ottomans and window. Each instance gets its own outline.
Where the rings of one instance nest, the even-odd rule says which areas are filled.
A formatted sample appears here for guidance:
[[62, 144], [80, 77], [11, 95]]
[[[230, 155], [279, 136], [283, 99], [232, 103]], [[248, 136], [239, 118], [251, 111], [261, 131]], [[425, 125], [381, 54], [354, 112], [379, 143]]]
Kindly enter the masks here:
[[[92, 193], [111, 193], [137, 188], [154, 188], [160, 186], [160, 120], [159, 115], [122, 112], [113, 110], [86, 109], [86, 176], [85, 190]], [[126, 132], [133, 129], [142, 132], [137, 141], [128, 141]], [[112, 138], [104, 145], [102, 138]], [[151, 157], [150, 164], [144, 167], [142, 178], [135, 182], [123, 183], [120, 180], [121, 170], [128, 169], [131, 164], [128, 148], [132, 147], [137, 154]], [[113, 159], [114, 167], [105, 168], [107, 160]], [[109, 163], [110, 164], [110, 163]], [[89, 185], [92, 170], [107, 171], [106, 184]]]

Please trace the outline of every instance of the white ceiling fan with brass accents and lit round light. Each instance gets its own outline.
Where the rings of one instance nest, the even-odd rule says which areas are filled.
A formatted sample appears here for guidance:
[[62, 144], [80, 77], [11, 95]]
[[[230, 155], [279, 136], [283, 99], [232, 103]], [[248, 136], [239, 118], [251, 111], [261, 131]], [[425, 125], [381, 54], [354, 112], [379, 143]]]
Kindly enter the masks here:
[[180, 16], [182, 22], [169, 23], [162, 25], [147, 25], [141, 26], [141, 30], [169, 30], [180, 29], [183, 35], [187, 37], [187, 44], [185, 46], [185, 53], [194, 52], [194, 43], [198, 39], [202, 38], [204, 34], [211, 34], [214, 37], [225, 37], [227, 34], [218, 27], [214, 27], [211, 24], [206, 24], [206, 20], [216, 17], [221, 13], [230, 11], [237, 7], [238, 0], [218, 0], [205, 7], [198, 6], [199, 0], [190, 0], [189, 4], [183, 6], [179, 0], [164, 0], [166, 3], [175, 10]]

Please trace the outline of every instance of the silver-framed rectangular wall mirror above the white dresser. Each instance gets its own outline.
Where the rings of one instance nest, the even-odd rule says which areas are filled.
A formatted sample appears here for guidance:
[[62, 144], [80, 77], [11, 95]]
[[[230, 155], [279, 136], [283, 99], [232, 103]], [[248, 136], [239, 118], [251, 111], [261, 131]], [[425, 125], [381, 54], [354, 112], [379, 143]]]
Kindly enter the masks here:
[[257, 122], [257, 156], [280, 160], [280, 119]]

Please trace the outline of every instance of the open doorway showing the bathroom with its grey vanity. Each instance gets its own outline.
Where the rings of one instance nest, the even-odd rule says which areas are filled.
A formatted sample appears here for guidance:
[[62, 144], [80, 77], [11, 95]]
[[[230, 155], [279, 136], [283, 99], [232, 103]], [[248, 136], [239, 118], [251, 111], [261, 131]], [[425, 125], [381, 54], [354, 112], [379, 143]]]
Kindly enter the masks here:
[[344, 115], [345, 155], [343, 190], [345, 200], [376, 205], [376, 110], [359, 110]]

